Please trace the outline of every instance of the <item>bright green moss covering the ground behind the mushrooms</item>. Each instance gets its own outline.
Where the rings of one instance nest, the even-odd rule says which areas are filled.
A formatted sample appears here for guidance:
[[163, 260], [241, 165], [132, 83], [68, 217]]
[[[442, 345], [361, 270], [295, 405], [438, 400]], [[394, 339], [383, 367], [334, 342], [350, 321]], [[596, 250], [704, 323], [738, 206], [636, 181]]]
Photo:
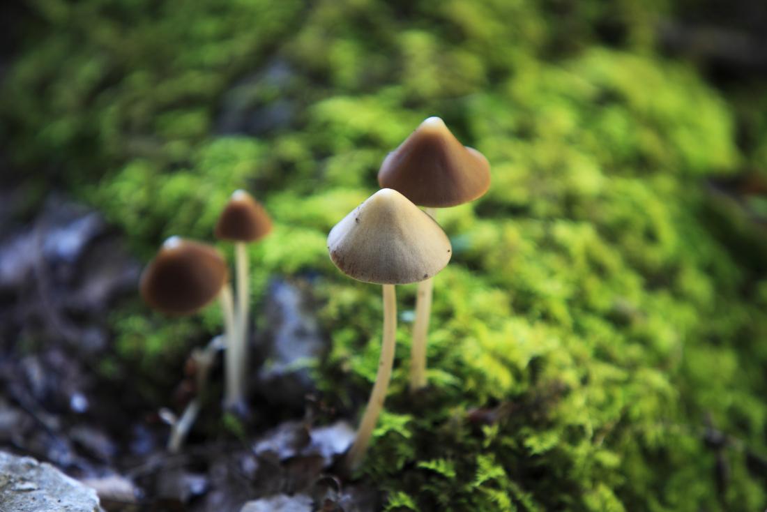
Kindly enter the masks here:
[[[332, 349], [314, 373], [354, 417], [380, 289], [341, 276], [325, 236], [439, 114], [493, 183], [439, 212], [454, 256], [415, 399], [400, 322], [361, 469], [387, 510], [762, 510], [767, 250], [707, 180], [764, 169], [763, 144], [739, 147], [739, 110], [653, 51], [665, 2], [606, 5], [40, 0], [3, 84], [5, 135], [20, 168], [48, 169], [145, 259], [165, 236], [211, 239], [229, 193], [252, 191], [275, 220], [251, 249], [254, 294], [318, 276]], [[232, 109], [267, 128], [222, 127]], [[412, 309], [413, 286], [398, 293]], [[157, 358], [180, 361], [217, 315], [114, 312], [147, 394]], [[706, 442], [712, 428], [729, 441]]]

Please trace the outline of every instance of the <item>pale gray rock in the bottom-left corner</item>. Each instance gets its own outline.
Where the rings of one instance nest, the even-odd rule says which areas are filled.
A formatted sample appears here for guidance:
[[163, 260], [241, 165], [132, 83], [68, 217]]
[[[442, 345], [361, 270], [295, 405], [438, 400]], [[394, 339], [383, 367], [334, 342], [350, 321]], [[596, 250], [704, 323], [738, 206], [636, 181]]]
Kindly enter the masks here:
[[0, 451], [0, 509], [8, 512], [100, 512], [96, 491], [51, 464]]

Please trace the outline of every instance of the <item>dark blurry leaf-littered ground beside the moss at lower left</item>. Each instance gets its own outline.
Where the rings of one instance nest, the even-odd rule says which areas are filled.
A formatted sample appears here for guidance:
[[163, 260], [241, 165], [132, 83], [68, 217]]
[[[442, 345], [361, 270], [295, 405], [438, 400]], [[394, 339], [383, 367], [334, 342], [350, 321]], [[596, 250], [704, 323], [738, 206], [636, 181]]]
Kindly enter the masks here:
[[[6, 207], [20, 196], [2, 195]], [[277, 363], [254, 382], [278, 382], [281, 400], [251, 411], [258, 421], [239, 418], [236, 441], [193, 438], [188, 450], [166, 451], [172, 413], [142, 401], [130, 378], [116, 383], [98, 370], [113, 349], [109, 309], [135, 295], [139, 272], [98, 213], [64, 198], [49, 198], [31, 226], [0, 225], [0, 446], [51, 461], [94, 487], [107, 510], [239, 510], [265, 496], [267, 508], [255, 510], [314, 510], [312, 503], [375, 510], [377, 494], [342, 484], [333, 467], [354, 439], [352, 426], [314, 428], [321, 411], [295, 415], [304, 398], [320, 405], [311, 401], [308, 375], [290, 369], [291, 358], [316, 353], [325, 341], [294, 283], [272, 282], [267, 300], [269, 335], [289, 338], [290, 350], [283, 343], [281, 354], [259, 354]], [[193, 379], [179, 373], [178, 382], [169, 401], [183, 406], [195, 393]], [[216, 401], [207, 402], [202, 418], [219, 415]], [[290, 415], [249, 435], [252, 424]]]

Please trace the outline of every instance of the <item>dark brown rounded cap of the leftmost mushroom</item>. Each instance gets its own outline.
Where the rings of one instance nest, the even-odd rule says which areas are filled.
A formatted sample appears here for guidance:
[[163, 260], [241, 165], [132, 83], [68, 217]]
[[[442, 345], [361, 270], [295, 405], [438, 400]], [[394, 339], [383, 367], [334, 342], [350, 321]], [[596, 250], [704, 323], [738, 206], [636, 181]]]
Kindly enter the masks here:
[[214, 247], [172, 236], [141, 275], [141, 296], [169, 315], [191, 315], [216, 299], [227, 279], [226, 262]]

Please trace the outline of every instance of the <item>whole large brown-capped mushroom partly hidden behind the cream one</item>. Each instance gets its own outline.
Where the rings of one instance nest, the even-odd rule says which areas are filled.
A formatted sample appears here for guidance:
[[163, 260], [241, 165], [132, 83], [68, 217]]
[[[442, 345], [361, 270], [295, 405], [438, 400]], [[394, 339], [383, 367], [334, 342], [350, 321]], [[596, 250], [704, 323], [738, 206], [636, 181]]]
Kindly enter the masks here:
[[[481, 197], [490, 186], [490, 164], [472, 147], [463, 146], [439, 117], [429, 117], [384, 159], [378, 171], [381, 187], [398, 190], [436, 218], [436, 208], [456, 206]], [[426, 334], [431, 315], [433, 281], [419, 283], [410, 352], [410, 391], [426, 386]]]

